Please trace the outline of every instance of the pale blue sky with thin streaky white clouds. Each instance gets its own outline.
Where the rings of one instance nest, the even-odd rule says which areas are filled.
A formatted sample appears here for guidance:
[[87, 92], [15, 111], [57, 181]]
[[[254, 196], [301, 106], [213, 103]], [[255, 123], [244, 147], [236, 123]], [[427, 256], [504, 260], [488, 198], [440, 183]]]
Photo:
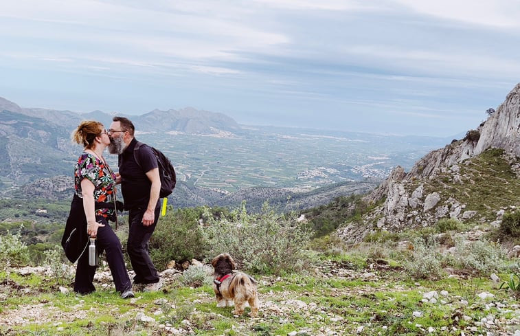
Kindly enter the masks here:
[[16, 0], [0, 97], [240, 124], [450, 137], [520, 82], [517, 0]]

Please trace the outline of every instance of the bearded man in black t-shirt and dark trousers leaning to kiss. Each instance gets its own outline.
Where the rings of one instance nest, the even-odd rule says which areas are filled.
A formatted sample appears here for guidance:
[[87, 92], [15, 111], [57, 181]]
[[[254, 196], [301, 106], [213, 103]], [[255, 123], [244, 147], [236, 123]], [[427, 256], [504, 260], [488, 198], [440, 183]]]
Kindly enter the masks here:
[[113, 117], [109, 136], [109, 152], [118, 155], [119, 172], [116, 183], [121, 183], [124, 209], [129, 211], [128, 256], [135, 271], [134, 284], [144, 291], [161, 287], [159, 274], [148, 251], [148, 240], [159, 219], [159, 191], [161, 180], [157, 159], [149, 146], [142, 145], [135, 153], [135, 127], [126, 117]]

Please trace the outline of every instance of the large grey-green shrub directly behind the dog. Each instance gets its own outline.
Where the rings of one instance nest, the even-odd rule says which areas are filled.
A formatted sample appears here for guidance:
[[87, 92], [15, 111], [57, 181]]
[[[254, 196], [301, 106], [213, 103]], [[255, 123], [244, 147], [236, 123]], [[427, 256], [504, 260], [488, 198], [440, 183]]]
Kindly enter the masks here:
[[221, 220], [207, 214], [203, 234], [210, 258], [227, 252], [240, 268], [258, 273], [280, 273], [302, 268], [304, 249], [312, 231], [295, 213], [277, 214], [264, 203], [258, 214], [247, 214], [245, 203]]

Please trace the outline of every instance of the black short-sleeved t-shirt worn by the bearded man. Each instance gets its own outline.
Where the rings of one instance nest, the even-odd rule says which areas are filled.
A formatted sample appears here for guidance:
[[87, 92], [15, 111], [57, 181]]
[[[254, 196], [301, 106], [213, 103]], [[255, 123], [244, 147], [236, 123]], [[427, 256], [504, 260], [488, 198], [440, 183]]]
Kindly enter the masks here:
[[157, 158], [152, 153], [150, 146], [141, 146], [137, 151], [137, 159], [134, 158], [134, 148], [137, 144], [135, 138], [119, 155], [119, 173], [121, 175], [121, 192], [123, 194], [125, 210], [146, 208], [150, 201], [150, 188], [152, 183], [146, 176], [146, 172], [157, 168]]

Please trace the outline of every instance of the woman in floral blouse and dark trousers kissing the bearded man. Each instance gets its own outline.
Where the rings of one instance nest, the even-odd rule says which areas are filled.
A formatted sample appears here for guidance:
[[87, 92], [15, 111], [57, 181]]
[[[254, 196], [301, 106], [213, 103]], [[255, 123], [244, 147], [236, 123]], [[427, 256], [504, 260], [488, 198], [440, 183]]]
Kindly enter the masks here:
[[[83, 121], [72, 133], [72, 139], [84, 146], [74, 168], [74, 188], [76, 192], [71, 204], [67, 222], [74, 223], [78, 230], [96, 238], [98, 255], [106, 251], [106, 260], [115, 284], [115, 290], [122, 298], [133, 298], [132, 284], [124, 265], [121, 242], [108, 221], [116, 216], [115, 174], [106, 164], [103, 150], [110, 144], [110, 138], [103, 124]], [[73, 222], [74, 221], [74, 222]], [[92, 284], [95, 266], [89, 266], [89, 253], [82, 248], [76, 268], [74, 291], [88, 294], [95, 291]]]

